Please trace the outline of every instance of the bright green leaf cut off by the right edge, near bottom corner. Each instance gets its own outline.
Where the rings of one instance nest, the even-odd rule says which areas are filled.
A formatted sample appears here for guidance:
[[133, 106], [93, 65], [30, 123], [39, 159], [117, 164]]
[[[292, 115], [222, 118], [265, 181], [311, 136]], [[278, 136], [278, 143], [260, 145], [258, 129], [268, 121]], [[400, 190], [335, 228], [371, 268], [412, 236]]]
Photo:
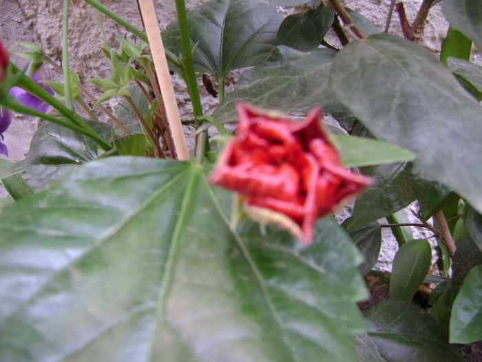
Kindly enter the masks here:
[[482, 339], [482, 264], [465, 276], [450, 316], [450, 343]]

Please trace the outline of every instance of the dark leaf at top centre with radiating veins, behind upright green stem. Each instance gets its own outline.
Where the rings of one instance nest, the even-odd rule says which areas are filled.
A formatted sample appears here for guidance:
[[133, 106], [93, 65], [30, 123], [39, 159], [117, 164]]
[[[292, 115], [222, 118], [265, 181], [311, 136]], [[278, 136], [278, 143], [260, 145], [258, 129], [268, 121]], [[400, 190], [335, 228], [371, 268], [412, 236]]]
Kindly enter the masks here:
[[[194, 68], [224, 79], [233, 69], [256, 66], [274, 47], [282, 20], [262, 0], [211, 0], [188, 11]], [[163, 41], [181, 54], [177, 21], [163, 32]]]

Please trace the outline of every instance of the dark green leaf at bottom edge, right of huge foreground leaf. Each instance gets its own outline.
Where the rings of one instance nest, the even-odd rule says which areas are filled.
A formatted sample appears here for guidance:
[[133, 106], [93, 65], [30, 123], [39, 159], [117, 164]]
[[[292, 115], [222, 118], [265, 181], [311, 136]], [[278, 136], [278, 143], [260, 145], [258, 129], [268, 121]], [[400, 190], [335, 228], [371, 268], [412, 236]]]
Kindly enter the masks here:
[[364, 312], [368, 336], [387, 362], [463, 362], [460, 348], [425, 310], [406, 301], [381, 301]]

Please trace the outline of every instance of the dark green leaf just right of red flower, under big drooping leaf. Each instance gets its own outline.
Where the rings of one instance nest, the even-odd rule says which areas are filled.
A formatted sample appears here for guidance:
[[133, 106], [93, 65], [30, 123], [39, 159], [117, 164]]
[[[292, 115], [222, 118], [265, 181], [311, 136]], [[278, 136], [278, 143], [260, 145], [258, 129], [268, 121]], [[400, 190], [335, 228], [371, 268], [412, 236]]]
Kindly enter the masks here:
[[375, 183], [357, 197], [348, 229], [370, 223], [400, 210], [415, 200], [408, 183], [407, 163], [390, 163], [360, 169]]

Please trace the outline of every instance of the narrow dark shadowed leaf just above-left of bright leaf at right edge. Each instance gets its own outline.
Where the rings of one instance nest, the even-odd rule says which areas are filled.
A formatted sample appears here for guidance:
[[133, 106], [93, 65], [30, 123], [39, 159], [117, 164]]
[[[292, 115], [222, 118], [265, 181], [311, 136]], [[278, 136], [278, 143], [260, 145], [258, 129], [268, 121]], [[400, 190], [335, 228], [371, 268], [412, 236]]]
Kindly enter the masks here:
[[459, 293], [463, 279], [475, 265], [479, 264], [482, 264], [482, 251], [474, 241], [470, 237], [459, 241], [452, 263], [452, 279], [434, 301], [430, 311], [430, 316], [434, 317], [440, 325], [448, 328], [452, 303]]

